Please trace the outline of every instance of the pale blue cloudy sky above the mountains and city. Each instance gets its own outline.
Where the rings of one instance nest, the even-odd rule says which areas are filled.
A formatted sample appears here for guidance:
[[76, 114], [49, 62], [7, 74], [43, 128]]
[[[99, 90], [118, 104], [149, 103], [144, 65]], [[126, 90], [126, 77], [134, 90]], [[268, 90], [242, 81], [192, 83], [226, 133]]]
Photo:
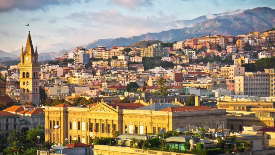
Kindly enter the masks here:
[[[38, 53], [69, 50], [97, 39], [131, 37], [187, 25], [213, 13], [275, 8], [274, 0], [0, 0], [0, 50], [25, 47], [28, 26]], [[188, 25], [190, 26], [190, 25]], [[14, 53], [14, 52], [13, 52]]]

